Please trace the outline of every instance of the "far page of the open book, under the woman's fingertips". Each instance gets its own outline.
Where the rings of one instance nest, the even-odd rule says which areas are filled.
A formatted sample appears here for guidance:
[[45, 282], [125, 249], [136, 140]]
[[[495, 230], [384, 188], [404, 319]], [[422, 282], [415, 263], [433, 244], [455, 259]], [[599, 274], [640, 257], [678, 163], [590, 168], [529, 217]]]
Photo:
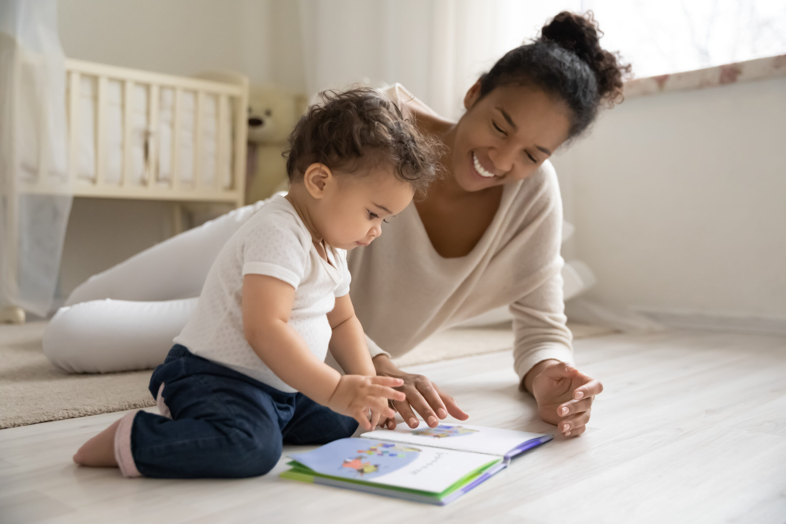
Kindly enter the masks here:
[[375, 430], [361, 435], [362, 438], [380, 438], [413, 445], [428, 445], [435, 448], [456, 449], [473, 453], [505, 456], [524, 442], [550, 435], [527, 431], [501, 430], [496, 427], [469, 426], [468, 424], [439, 423], [437, 427], [421, 425], [412, 429], [399, 424], [395, 430]]

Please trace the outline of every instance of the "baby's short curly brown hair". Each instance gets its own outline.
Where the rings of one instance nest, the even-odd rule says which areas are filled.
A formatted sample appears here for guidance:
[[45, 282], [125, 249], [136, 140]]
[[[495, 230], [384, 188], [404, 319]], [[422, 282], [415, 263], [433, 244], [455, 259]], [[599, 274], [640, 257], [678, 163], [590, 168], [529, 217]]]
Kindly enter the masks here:
[[395, 176], [424, 195], [438, 177], [443, 146], [421, 134], [383, 93], [367, 87], [320, 93], [307, 109], [284, 153], [290, 182], [303, 179], [312, 163], [361, 174], [389, 163]]

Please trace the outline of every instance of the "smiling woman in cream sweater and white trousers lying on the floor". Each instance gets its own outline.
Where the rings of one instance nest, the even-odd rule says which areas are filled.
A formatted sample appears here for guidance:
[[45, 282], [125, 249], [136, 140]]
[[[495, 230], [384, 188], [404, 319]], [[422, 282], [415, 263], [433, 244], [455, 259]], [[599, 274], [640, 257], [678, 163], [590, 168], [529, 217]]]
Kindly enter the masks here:
[[[467, 415], [425, 376], [390, 360], [440, 328], [509, 305], [514, 368], [543, 420], [581, 434], [603, 387], [571, 366], [560, 269], [562, 208], [549, 156], [587, 129], [601, 104], [619, 101], [622, 73], [598, 42], [591, 15], [560, 13], [538, 41], [513, 49], [465, 97], [458, 123], [394, 86], [388, 94], [445, 145], [445, 176], [391, 220], [384, 235], [351, 251], [351, 299], [379, 375], [404, 379], [395, 409], [410, 427]], [[163, 362], [188, 319], [215, 255], [264, 203], [175, 236], [91, 278], [61, 310], [46, 354], [72, 371], [119, 371]], [[142, 326], [142, 328], [140, 328]], [[98, 330], [99, 332], [96, 332]], [[384, 350], [382, 349], [384, 348]], [[391, 424], [392, 426], [392, 424]], [[389, 426], [389, 427], [391, 427]]]

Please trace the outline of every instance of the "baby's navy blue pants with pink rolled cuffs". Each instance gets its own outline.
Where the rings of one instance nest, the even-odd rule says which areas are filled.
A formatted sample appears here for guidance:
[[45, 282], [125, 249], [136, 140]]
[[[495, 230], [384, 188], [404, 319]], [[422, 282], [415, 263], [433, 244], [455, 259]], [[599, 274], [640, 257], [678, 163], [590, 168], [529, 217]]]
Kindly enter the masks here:
[[283, 442], [325, 444], [358, 427], [302, 393], [277, 390], [179, 344], [152, 374], [153, 397], [162, 383], [172, 418], [140, 411], [130, 426], [130, 454], [146, 477], [264, 475], [277, 464]]

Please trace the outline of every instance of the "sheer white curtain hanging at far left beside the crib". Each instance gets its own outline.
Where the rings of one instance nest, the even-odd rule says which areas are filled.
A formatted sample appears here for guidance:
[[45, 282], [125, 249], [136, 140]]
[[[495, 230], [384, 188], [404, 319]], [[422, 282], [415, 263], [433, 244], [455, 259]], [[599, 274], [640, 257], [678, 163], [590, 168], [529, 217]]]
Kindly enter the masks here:
[[0, 307], [52, 306], [72, 197], [57, 0], [0, 0]]

